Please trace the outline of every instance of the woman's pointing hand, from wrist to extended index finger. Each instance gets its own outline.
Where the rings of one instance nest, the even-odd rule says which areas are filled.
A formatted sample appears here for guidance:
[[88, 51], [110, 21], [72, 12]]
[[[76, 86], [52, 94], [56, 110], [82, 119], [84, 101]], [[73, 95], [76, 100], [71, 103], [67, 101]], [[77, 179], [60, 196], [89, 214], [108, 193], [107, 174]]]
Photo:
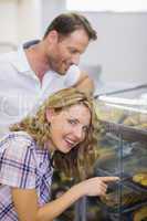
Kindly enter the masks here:
[[82, 196], [105, 196], [107, 191], [107, 183], [118, 181], [118, 177], [94, 177], [80, 182], [76, 188]]

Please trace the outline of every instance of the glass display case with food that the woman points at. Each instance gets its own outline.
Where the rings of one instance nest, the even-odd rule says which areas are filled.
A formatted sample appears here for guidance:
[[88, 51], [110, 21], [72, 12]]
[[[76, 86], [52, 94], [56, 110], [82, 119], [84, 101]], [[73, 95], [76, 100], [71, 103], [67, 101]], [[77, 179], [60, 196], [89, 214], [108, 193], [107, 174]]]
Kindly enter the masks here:
[[147, 221], [147, 87], [98, 96], [96, 113], [104, 133], [95, 176], [120, 181], [111, 183], [105, 197], [87, 199], [83, 220]]

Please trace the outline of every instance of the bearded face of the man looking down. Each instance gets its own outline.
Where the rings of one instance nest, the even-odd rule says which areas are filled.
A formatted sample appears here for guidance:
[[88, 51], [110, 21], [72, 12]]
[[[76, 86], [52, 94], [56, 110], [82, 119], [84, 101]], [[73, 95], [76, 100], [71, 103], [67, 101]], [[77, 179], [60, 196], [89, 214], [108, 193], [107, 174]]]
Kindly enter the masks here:
[[76, 30], [65, 38], [56, 32], [56, 41], [53, 41], [52, 49], [50, 52], [46, 49], [50, 67], [64, 75], [72, 64], [78, 64], [80, 55], [85, 51], [88, 42], [84, 30]]

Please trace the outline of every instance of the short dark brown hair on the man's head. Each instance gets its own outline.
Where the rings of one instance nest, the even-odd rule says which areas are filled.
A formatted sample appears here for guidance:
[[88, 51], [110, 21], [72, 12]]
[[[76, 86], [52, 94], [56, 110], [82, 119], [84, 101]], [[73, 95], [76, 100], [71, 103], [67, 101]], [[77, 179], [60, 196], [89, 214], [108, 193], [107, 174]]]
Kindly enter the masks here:
[[55, 30], [63, 36], [66, 36], [75, 30], [81, 29], [87, 33], [90, 40], [97, 39], [96, 31], [92, 28], [91, 23], [84, 15], [78, 13], [62, 13], [48, 27], [43, 39], [45, 39], [52, 30]]

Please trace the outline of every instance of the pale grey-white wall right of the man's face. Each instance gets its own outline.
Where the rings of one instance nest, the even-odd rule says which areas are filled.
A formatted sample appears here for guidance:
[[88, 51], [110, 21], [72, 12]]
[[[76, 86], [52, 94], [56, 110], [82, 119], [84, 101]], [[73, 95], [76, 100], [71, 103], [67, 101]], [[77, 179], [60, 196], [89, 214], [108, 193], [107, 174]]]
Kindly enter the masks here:
[[104, 81], [147, 82], [147, 13], [84, 13], [97, 30], [82, 62], [101, 64]]

